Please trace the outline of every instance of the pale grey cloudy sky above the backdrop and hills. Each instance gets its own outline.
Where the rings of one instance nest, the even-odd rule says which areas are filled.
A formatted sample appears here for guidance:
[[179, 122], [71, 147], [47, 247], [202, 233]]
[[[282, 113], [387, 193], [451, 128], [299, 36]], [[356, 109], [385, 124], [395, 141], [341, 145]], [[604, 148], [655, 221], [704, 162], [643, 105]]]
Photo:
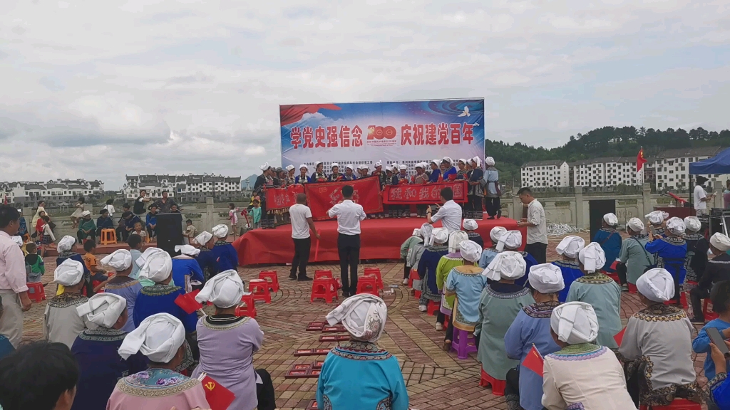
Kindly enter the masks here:
[[484, 97], [489, 139], [728, 128], [730, 1], [0, 1], [0, 180], [253, 174], [278, 105]]

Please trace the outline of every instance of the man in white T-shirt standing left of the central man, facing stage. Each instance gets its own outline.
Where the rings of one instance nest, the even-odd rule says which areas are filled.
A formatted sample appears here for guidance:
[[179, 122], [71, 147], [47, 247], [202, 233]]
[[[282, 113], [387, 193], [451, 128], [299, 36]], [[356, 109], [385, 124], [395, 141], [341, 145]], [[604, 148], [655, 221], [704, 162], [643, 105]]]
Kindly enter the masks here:
[[[320, 238], [319, 233], [315, 229], [315, 223], [312, 222], [312, 211], [307, 204], [307, 194], [296, 194], [296, 204], [289, 207], [289, 216], [291, 217], [291, 239], [294, 241], [294, 258], [291, 261], [291, 280], [299, 279], [299, 281], [312, 280], [307, 277], [307, 262], [310, 261], [310, 249], [312, 248], [312, 238], [310, 238], [310, 230], [315, 233], [317, 239]], [[296, 276], [296, 269], [299, 268], [299, 278]]]

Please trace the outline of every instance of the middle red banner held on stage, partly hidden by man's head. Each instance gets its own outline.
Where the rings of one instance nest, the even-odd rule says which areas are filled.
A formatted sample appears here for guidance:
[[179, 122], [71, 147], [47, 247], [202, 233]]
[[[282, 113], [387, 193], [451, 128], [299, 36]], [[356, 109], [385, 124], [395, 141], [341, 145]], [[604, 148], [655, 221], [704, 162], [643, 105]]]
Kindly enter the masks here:
[[379, 179], [372, 177], [347, 182], [323, 182], [305, 185], [307, 205], [312, 210], [313, 220], [331, 219], [328, 217], [327, 211], [342, 201], [342, 187], [345, 185], [352, 185], [355, 188], [353, 201], [361, 204], [366, 214], [383, 212]]

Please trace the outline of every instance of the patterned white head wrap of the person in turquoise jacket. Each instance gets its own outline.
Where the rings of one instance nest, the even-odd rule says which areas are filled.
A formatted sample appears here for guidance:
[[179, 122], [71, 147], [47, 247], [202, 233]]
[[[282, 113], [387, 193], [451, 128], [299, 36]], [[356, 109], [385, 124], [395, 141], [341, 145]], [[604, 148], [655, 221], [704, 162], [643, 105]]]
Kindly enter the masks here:
[[376, 341], [385, 330], [388, 306], [374, 295], [350, 296], [327, 314], [329, 325], [342, 322], [348, 332], [361, 341]]

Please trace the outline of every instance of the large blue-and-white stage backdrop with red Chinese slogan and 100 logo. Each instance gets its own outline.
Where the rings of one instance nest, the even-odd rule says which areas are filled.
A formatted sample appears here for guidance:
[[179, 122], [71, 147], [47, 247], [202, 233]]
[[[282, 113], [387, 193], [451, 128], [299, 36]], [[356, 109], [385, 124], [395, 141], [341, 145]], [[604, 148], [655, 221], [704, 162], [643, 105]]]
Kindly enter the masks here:
[[484, 159], [484, 99], [280, 106], [282, 166]]

